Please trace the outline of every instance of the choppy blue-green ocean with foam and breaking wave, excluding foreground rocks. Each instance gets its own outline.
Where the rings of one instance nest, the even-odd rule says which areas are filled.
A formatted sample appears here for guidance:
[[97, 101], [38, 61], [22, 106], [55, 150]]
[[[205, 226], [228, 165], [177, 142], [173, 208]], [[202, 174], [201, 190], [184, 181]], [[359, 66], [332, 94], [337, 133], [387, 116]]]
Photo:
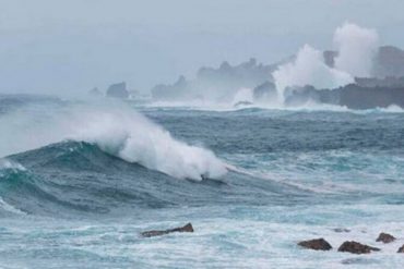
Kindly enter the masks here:
[[401, 268], [403, 112], [2, 95], [0, 268]]

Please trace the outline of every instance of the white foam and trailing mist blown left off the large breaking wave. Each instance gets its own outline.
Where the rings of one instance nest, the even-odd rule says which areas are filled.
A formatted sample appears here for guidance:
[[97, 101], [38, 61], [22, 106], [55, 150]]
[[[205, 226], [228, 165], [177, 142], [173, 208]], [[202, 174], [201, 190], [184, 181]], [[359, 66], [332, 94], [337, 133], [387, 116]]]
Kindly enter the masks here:
[[10, 142], [0, 145], [0, 156], [74, 139], [178, 179], [218, 179], [227, 172], [212, 151], [175, 139], [122, 102], [26, 107], [2, 117], [0, 131]]

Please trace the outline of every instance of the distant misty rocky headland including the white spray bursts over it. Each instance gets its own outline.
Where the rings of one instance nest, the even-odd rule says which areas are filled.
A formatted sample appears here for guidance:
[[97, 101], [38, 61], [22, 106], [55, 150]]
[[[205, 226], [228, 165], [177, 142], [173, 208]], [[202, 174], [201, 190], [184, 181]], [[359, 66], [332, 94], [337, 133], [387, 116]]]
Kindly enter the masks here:
[[201, 68], [194, 78], [180, 76], [152, 91], [156, 101], [197, 101], [202, 106], [298, 107], [310, 103], [349, 109], [404, 108], [404, 51], [379, 47], [375, 29], [345, 23], [335, 29], [335, 50], [302, 46], [273, 64], [256, 59], [217, 69]]

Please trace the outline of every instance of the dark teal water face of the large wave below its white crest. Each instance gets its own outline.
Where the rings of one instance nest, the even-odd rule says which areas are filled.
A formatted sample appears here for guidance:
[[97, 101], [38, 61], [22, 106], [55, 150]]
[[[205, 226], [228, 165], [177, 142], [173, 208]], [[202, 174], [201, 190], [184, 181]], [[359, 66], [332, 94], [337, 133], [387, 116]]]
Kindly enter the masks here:
[[25, 169], [1, 169], [0, 197], [27, 215], [122, 216], [151, 208], [288, 205], [312, 199], [308, 191], [239, 172], [229, 172], [222, 181], [179, 181], [88, 143], [58, 143], [8, 158]]

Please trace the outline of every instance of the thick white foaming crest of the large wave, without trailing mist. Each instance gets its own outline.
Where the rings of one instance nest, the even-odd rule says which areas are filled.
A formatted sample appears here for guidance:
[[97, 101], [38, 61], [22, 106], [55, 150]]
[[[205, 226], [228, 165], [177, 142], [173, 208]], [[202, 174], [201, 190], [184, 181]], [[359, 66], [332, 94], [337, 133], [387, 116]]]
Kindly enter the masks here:
[[226, 167], [212, 151], [176, 140], [169, 132], [141, 114], [107, 111], [88, 114], [75, 140], [178, 179], [217, 179]]

